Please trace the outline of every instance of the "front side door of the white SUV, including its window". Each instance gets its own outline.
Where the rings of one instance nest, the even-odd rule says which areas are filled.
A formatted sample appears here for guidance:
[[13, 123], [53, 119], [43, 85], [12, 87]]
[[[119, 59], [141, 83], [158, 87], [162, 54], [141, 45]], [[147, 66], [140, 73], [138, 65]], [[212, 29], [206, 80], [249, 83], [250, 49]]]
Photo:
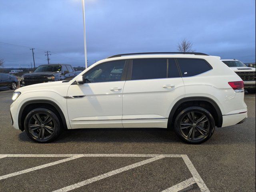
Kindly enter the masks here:
[[72, 128], [122, 128], [122, 91], [128, 62], [99, 64], [70, 85], [67, 108]]

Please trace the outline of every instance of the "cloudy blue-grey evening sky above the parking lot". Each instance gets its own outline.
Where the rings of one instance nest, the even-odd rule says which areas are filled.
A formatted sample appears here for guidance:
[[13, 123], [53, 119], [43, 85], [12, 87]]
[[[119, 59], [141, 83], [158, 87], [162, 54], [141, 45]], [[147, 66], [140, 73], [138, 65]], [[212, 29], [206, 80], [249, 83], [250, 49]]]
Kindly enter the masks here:
[[[85, 0], [89, 65], [127, 52], [172, 52], [183, 38], [197, 52], [255, 62], [255, 0]], [[81, 0], [1, 0], [5, 67], [84, 66]], [[13, 44], [13, 45], [10, 45]], [[14, 46], [18, 45], [18, 46]]]

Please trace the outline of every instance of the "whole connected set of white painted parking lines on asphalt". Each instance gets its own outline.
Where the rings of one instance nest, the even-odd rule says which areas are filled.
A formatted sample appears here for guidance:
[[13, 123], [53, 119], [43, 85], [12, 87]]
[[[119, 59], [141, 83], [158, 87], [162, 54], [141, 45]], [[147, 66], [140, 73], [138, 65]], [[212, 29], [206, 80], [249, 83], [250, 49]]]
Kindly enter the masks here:
[[98, 180], [102, 180], [104, 178], [107, 178], [109, 176], [113, 176], [115, 174], [136, 168], [138, 166], [142, 166], [144, 164], [148, 164], [150, 162], [162, 159], [162, 158], [182, 158], [186, 164], [186, 166], [188, 167], [188, 170], [190, 171], [190, 173], [192, 174], [192, 178], [184, 180], [183, 182], [180, 182], [179, 184], [176, 184], [166, 190], [163, 190], [162, 192], [178, 192], [180, 190], [183, 190], [185, 188], [187, 188], [188, 186], [196, 183], [198, 185], [198, 187], [200, 188], [201, 192], [210, 192], [210, 190], [207, 188], [206, 184], [204, 183], [204, 181], [202, 180], [202, 178], [200, 177], [200, 175], [198, 174], [198, 172], [196, 171], [196, 168], [194, 167], [194, 165], [192, 164], [192, 162], [190, 161], [190, 159], [188, 158], [187, 155], [180, 155], [180, 154], [0, 154], [0, 158], [8, 158], [8, 157], [69, 157], [63, 160], [59, 160], [59, 161], [55, 161], [52, 163], [48, 163], [48, 164], [44, 164], [44, 165], [40, 165], [40, 166], [36, 166], [33, 168], [29, 168], [26, 170], [22, 170], [22, 171], [18, 171], [18, 172], [14, 172], [11, 174], [7, 174], [4, 176], [0, 176], [0, 180], [5, 179], [5, 178], [9, 178], [9, 177], [13, 177], [16, 175], [20, 175], [20, 174], [24, 174], [27, 172], [31, 172], [34, 170], [38, 170], [38, 169], [42, 169], [42, 168], [46, 168], [48, 166], [52, 166], [52, 165], [56, 165], [56, 164], [60, 164], [62, 162], [66, 162], [66, 161], [70, 161], [76, 158], [80, 158], [80, 157], [151, 157], [150, 159], [147, 160], [143, 160], [107, 173], [104, 173], [102, 175], [99, 176], [95, 176], [93, 178], [84, 180], [82, 182], [78, 182], [76, 184], [72, 184], [70, 186], [66, 186], [64, 188], [55, 190], [54, 192], [67, 192], [70, 190], [73, 190], [75, 188], [79, 188], [81, 186], [85, 186], [87, 184], [90, 184], [92, 182], [96, 182]]

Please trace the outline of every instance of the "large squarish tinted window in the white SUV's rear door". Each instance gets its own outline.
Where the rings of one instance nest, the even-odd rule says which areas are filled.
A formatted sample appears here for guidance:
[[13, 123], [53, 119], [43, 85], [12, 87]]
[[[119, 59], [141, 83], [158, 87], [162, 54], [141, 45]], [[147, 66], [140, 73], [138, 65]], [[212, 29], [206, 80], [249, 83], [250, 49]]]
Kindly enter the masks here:
[[132, 80], [166, 78], [166, 59], [134, 59]]

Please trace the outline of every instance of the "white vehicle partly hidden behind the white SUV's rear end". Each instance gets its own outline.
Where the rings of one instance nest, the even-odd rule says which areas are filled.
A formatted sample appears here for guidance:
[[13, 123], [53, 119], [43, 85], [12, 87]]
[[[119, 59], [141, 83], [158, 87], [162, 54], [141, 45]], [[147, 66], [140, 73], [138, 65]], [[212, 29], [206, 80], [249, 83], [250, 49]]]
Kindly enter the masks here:
[[255, 68], [247, 67], [236, 59], [222, 59], [244, 81], [244, 88], [248, 93], [255, 93]]

